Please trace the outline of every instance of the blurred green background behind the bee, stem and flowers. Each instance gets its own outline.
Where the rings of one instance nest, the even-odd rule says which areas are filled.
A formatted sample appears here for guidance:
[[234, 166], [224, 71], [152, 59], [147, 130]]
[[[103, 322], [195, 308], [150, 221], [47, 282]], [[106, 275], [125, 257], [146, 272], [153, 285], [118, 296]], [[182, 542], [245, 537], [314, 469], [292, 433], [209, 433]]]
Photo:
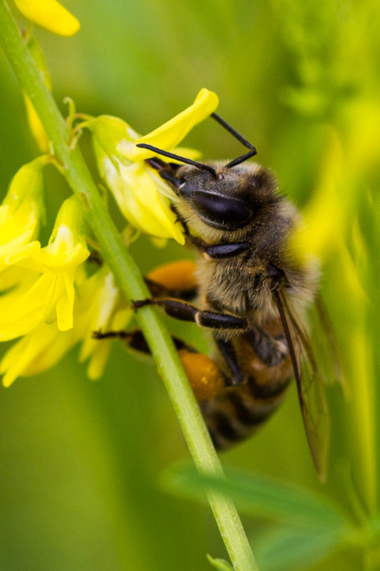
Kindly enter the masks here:
[[[298, 205], [309, 202], [324, 175], [329, 178], [334, 130], [342, 143], [342, 173], [347, 177], [339, 182], [346, 190], [344, 232], [371, 300], [369, 316], [350, 297], [339, 263], [328, 251], [323, 289], [343, 353], [349, 354], [349, 372], [363, 384], [372, 406], [371, 411], [365, 403], [356, 411], [351, 406], [351, 428], [360, 430], [361, 418], [373, 418], [379, 409], [374, 393], [379, 363], [371, 341], [380, 333], [379, 4], [64, 4], [81, 21], [76, 36], [61, 38], [36, 30], [60, 104], [71, 96], [83, 113], [118, 115], [147, 133], [207, 87], [220, 96], [218, 112], [252, 141], [257, 160], [274, 170], [284, 192]], [[16, 170], [38, 150], [26, 124], [19, 86], [2, 55], [0, 69], [0, 180], [5, 192]], [[185, 143], [200, 148], [207, 159], [242, 153], [237, 141], [212, 120], [195, 128]], [[86, 135], [81, 145], [93, 164]], [[53, 169], [48, 171], [51, 220], [69, 192]], [[330, 206], [326, 204], [327, 212]], [[361, 250], [351, 236], [355, 225]], [[133, 245], [133, 254], [143, 272], [191, 255], [174, 244], [157, 250], [144, 238]], [[359, 307], [357, 314], [347, 309], [351, 303]], [[346, 311], [351, 312], [348, 317]], [[349, 338], [352, 323], [365, 332], [364, 338]], [[170, 327], [181, 330], [173, 322]], [[203, 343], [196, 327], [187, 326], [186, 331], [188, 338]], [[364, 354], [357, 349], [359, 341]], [[361, 378], [352, 365], [356, 351], [363, 365]], [[136, 359], [115, 344], [103, 378], [91, 382], [74, 349], [51, 371], [0, 390], [1, 570], [200, 571], [210, 568], [206, 552], [226, 557], [209, 508], [170, 495], [160, 484], [162, 471], [188, 458], [188, 451], [150, 361]], [[354, 402], [359, 403], [356, 396], [354, 389]], [[345, 461], [345, 405], [334, 391], [331, 400], [337, 418], [334, 460], [331, 481], [324, 487], [314, 473], [294, 387], [268, 425], [252, 440], [224, 453], [223, 463], [337, 495], [339, 466]], [[372, 470], [374, 490], [374, 423], [369, 433], [366, 460], [372, 453], [372, 465], [363, 473]], [[373, 505], [376, 490], [371, 498]], [[263, 525], [251, 516], [244, 523], [249, 537]], [[359, 550], [353, 548], [313, 569], [356, 571], [364, 568], [361, 562]]]

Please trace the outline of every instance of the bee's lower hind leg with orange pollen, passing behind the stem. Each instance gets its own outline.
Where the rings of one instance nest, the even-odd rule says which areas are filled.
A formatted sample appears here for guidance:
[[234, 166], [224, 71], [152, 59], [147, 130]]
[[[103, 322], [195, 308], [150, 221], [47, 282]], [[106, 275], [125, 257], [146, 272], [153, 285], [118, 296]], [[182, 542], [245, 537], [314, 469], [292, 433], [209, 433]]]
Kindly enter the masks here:
[[[95, 339], [123, 339], [130, 349], [150, 355], [150, 349], [142, 331], [96, 331]], [[207, 355], [199, 353], [192, 346], [173, 336], [178, 356], [188, 376], [192, 390], [198, 402], [205, 401], [219, 394], [228, 382], [226, 375], [217, 364]]]

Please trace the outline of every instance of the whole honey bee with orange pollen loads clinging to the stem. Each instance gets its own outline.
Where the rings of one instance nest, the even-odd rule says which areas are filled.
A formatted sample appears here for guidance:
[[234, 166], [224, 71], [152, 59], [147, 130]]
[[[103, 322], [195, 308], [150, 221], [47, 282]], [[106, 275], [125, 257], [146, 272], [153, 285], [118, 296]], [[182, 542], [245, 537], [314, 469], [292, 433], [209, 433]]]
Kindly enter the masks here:
[[[147, 162], [174, 190], [173, 210], [197, 261], [151, 272], [146, 281], [153, 297], [133, 305], [155, 304], [171, 317], [212, 330], [212, 358], [180, 339], [175, 344], [217, 448], [255, 432], [278, 408], [294, 378], [312, 458], [323, 480], [329, 417], [305, 326], [319, 271], [292, 255], [289, 238], [299, 212], [279, 193], [269, 170], [246, 163], [255, 147], [219, 115], [212, 113], [212, 118], [248, 148], [245, 155], [227, 164], [203, 164], [138, 145], [155, 153]], [[124, 337], [148, 352], [139, 331]]]

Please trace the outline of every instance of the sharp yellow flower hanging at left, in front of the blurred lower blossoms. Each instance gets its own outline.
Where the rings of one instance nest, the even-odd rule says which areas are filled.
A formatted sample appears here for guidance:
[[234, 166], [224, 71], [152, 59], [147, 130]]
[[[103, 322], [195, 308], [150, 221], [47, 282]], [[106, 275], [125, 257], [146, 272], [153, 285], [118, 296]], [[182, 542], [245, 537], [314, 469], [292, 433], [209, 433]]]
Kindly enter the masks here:
[[74, 279], [88, 257], [81, 207], [75, 196], [61, 206], [48, 246], [35, 241], [17, 248], [5, 263], [25, 270], [17, 287], [0, 298], [0, 339], [14, 339], [41, 322], [73, 326]]

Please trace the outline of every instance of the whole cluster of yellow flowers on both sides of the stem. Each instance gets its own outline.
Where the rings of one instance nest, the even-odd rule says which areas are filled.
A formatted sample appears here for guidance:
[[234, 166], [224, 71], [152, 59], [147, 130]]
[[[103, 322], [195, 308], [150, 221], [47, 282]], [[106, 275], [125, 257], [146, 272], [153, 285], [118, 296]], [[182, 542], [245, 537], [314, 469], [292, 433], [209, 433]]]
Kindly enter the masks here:
[[[110, 116], [88, 118], [80, 125], [91, 130], [101, 176], [130, 225], [152, 237], [184, 243], [182, 227], [170, 210], [170, 187], [145, 162], [153, 153], [135, 144], [149, 141], [173, 150], [217, 103], [215, 93], [202, 89], [192, 106], [145, 137]], [[34, 125], [38, 140], [41, 130]], [[44, 139], [38, 143], [45, 145]], [[61, 205], [48, 244], [38, 241], [46, 163], [56, 161], [42, 155], [24, 165], [0, 206], [0, 341], [18, 339], [0, 362], [5, 386], [18, 376], [48, 369], [78, 343], [80, 360], [89, 359], [88, 376], [96, 379], [111, 341], [93, 339], [93, 331], [123, 329], [132, 317], [108, 267], [101, 265], [92, 274], [88, 270], [87, 228], [78, 197]]]

